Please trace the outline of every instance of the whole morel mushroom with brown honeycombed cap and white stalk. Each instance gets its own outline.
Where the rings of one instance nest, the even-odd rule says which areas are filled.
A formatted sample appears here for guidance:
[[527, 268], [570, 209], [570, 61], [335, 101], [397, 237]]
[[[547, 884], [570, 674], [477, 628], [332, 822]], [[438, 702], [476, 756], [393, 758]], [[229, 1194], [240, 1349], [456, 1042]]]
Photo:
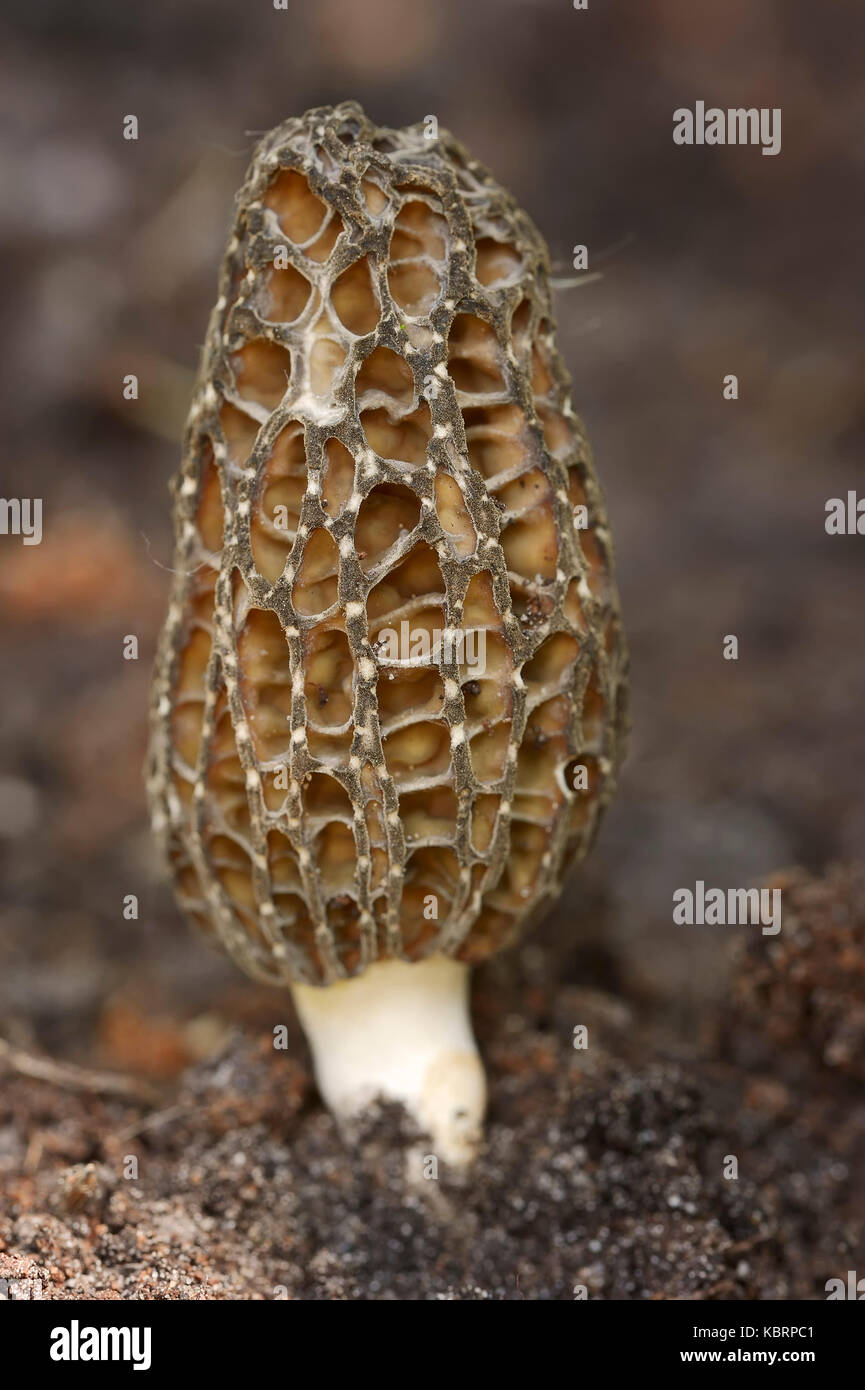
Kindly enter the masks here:
[[291, 986], [339, 1116], [480, 1134], [469, 967], [612, 792], [626, 656], [547, 247], [444, 131], [254, 152], [175, 485], [149, 792], [178, 899]]

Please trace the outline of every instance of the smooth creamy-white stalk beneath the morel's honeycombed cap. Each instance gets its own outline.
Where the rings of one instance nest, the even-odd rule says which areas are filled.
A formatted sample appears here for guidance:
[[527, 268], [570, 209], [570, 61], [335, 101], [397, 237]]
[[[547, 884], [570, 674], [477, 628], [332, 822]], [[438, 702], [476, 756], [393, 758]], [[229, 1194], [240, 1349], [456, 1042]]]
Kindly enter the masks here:
[[402, 1101], [444, 1162], [471, 1161], [487, 1104], [469, 1019], [469, 966], [377, 960], [353, 980], [293, 984], [318, 1090], [348, 1120], [377, 1095]]

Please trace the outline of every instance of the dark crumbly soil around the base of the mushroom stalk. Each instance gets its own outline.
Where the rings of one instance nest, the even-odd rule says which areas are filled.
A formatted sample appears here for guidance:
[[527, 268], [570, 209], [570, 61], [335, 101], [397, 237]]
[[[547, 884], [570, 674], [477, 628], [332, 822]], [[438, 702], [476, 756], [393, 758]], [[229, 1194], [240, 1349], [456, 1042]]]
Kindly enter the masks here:
[[395, 1106], [342, 1138], [302, 1048], [252, 1023], [156, 1109], [7, 1079], [0, 1277], [43, 1298], [825, 1297], [862, 1226], [865, 1105], [822, 1042], [865, 999], [862, 887], [787, 881], [809, 986], [801, 952], [766, 969], [782, 998], [811, 987], [795, 1088], [743, 1065], [762, 1047], [750, 995], [715, 1048], [658, 1061], [620, 999], [552, 990], [519, 956], [488, 972], [492, 1102], [469, 1176], [424, 1177]]

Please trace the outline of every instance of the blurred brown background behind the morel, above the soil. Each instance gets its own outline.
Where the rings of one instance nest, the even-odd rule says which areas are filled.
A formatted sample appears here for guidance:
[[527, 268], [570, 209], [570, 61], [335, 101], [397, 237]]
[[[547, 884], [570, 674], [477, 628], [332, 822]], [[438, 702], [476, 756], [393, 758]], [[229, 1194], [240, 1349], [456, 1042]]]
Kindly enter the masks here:
[[[865, 538], [823, 530], [827, 498], [865, 491], [865, 10], [7, 0], [0, 39], [1, 491], [45, 507], [40, 546], [0, 538], [0, 1031], [170, 1074], [214, 1011], [267, 999], [161, 881], [147, 682], [234, 190], [256, 132], [345, 97], [382, 124], [435, 114], [559, 274], [577, 242], [604, 271], [556, 304], [617, 542], [634, 734], [526, 960], [555, 947], [565, 977], [691, 1029], [723, 929], [674, 929], [673, 890], [865, 844]], [[674, 146], [672, 113], [698, 99], [780, 106], [782, 153]]]

